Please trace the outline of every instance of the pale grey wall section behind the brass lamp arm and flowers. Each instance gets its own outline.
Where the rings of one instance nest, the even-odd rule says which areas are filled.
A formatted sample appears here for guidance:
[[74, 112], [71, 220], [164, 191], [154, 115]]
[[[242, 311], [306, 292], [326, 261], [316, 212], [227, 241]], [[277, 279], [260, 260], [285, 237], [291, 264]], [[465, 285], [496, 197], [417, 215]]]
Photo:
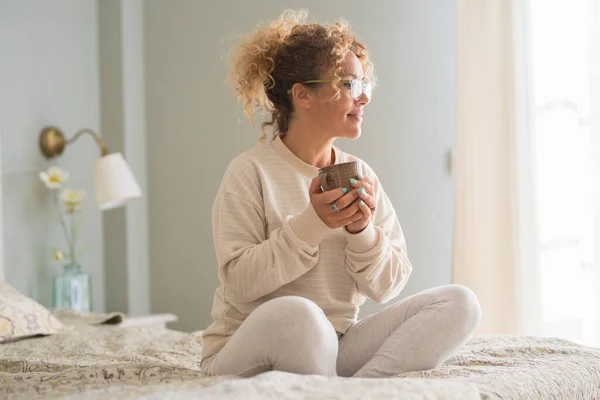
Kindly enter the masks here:
[[50, 250], [63, 237], [38, 174], [57, 164], [70, 172], [70, 186], [88, 193], [80, 237], [93, 245], [81, 262], [92, 273], [94, 309], [103, 311], [102, 222], [92, 185], [98, 149], [83, 138], [52, 162], [38, 149], [45, 125], [67, 136], [99, 128], [96, 14], [93, 0], [0, 1], [0, 171], [6, 281], [50, 304], [50, 276], [60, 270]]

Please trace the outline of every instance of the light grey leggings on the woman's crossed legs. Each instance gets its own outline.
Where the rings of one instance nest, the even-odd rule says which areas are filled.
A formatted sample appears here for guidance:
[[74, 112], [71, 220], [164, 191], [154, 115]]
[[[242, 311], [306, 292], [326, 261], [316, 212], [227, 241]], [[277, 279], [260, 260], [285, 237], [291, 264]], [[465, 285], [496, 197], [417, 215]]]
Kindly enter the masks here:
[[315, 303], [280, 297], [254, 310], [217, 354], [202, 361], [202, 369], [246, 377], [269, 370], [394, 376], [440, 366], [470, 338], [480, 318], [470, 289], [446, 285], [394, 303], [338, 338]]

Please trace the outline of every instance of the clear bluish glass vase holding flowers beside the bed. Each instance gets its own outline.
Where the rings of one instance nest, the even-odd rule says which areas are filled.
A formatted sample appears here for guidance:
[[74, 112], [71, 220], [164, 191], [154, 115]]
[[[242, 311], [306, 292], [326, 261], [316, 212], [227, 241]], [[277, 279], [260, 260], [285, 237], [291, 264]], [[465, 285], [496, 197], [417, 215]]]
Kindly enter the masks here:
[[55, 275], [52, 285], [53, 307], [74, 311], [92, 310], [92, 277], [77, 262], [65, 264], [63, 273]]

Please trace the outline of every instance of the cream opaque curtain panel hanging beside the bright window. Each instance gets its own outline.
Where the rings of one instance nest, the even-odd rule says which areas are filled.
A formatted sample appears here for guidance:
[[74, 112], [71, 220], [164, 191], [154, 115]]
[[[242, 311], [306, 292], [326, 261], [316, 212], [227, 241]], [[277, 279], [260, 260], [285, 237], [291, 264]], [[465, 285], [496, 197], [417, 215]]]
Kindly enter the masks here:
[[482, 307], [478, 333], [535, 334], [529, 1], [457, 0], [453, 282]]

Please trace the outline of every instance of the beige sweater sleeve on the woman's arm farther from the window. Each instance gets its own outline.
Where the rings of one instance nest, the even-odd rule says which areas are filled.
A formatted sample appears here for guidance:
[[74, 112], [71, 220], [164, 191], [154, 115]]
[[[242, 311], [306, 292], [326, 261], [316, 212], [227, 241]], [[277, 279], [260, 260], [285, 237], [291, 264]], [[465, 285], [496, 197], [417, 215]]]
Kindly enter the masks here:
[[[292, 222], [301, 228], [298, 233]], [[318, 243], [329, 231], [310, 203], [266, 234], [262, 207], [225, 192], [213, 207], [219, 278], [236, 299], [251, 302], [297, 279], [318, 261]]]

